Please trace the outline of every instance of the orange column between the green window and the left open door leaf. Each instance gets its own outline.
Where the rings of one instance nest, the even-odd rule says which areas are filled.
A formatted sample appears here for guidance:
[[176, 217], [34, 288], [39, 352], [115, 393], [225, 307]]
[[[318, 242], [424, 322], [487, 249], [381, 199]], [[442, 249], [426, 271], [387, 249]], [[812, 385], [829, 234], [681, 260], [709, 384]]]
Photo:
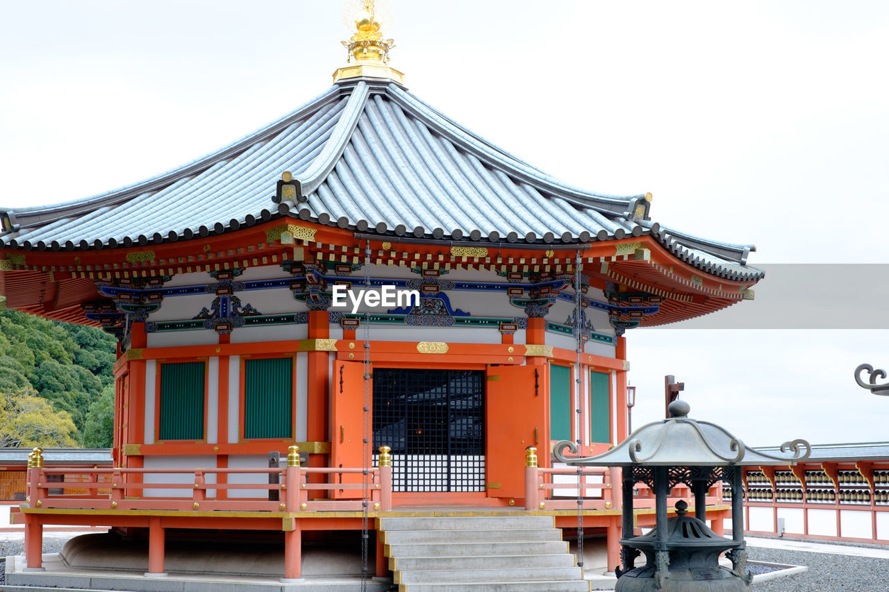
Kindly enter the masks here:
[[[326, 310], [310, 310], [308, 312], [308, 339], [325, 340], [330, 338], [330, 316]], [[307, 430], [308, 442], [329, 442], [328, 434], [330, 425], [330, 409], [328, 401], [328, 373], [330, 371], [330, 357], [325, 351], [308, 352], [307, 376], [297, 377], [297, 380], [306, 380], [307, 402]], [[309, 467], [326, 467], [327, 461], [324, 455], [309, 454]], [[323, 483], [323, 475], [312, 475], [311, 483]]]

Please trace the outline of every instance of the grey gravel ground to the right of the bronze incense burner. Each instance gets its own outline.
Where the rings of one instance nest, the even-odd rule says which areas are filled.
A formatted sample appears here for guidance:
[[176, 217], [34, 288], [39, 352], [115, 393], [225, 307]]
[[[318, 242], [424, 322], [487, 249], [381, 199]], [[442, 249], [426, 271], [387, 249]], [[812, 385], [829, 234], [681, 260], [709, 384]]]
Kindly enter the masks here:
[[748, 547], [752, 561], [806, 565], [808, 572], [754, 584], [756, 592], [889, 592], [889, 559]]

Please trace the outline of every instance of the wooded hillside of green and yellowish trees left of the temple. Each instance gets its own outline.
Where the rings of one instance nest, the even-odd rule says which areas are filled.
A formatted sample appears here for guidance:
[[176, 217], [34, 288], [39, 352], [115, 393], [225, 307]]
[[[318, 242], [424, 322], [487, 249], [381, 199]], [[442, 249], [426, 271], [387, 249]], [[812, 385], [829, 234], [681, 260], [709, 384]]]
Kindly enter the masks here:
[[0, 310], [0, 445], [110, 446], [115, 351], [100, 329]]

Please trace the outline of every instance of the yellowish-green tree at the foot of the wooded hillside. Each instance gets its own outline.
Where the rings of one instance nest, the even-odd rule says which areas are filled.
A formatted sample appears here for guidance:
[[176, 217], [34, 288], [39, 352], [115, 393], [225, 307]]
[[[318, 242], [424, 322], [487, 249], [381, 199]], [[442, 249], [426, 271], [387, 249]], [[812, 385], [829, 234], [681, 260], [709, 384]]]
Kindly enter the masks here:
[[33, 388], [0, 392], [0, 446], [76, 446], [74, 421]]

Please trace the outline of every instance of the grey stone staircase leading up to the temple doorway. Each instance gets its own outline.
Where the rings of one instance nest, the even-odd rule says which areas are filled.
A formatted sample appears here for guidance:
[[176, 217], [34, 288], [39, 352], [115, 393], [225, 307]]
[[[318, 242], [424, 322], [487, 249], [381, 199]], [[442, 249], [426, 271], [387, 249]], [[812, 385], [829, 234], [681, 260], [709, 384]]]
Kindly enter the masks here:
[[552, 516], [378, 518], [399, 592], [589, 592]]

